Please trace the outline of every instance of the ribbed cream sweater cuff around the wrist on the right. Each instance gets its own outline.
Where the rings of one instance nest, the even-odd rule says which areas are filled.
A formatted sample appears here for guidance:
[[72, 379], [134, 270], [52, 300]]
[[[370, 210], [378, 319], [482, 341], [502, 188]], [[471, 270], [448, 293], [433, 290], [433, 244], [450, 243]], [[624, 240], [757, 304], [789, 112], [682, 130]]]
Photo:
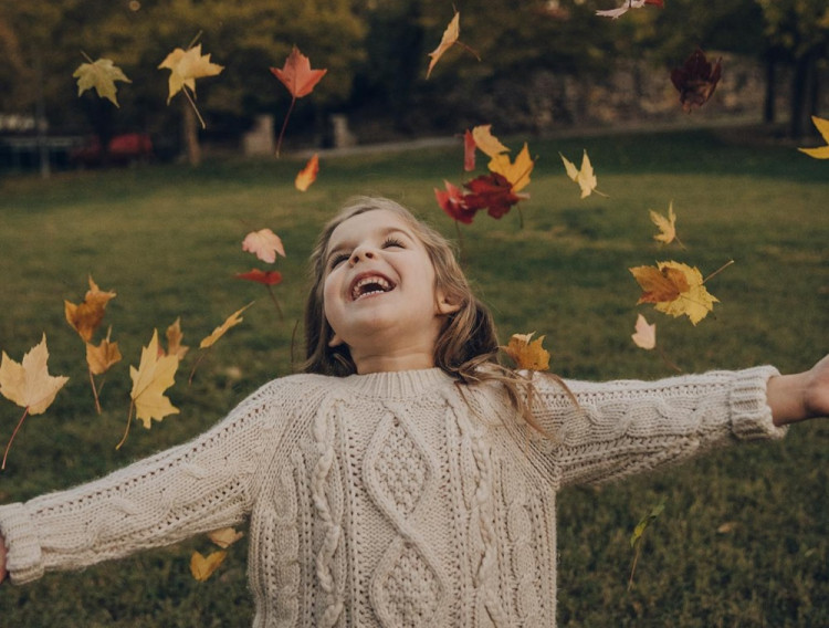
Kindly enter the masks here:
[[731, 391], [732, 431], [741, 440], [779, 439], [787, 428], [772, 420], [766, 385], [770, 377], [780, 375], [773, 366], [758, 366], [736, 374]]

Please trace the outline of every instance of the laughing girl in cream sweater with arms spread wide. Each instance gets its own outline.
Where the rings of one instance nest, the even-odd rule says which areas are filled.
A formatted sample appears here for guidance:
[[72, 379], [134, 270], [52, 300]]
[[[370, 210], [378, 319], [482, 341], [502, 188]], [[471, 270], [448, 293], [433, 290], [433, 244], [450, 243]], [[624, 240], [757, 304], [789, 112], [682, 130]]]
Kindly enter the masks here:
[[192, 442], [0, 506], [18, 584], [250, 519], [254, 626], [553, 626], [556, 492], [829, 414], [829, 358], [654, 383], [502, 368], [447, 241], [386, 199], [324, 229], [305, 374]]

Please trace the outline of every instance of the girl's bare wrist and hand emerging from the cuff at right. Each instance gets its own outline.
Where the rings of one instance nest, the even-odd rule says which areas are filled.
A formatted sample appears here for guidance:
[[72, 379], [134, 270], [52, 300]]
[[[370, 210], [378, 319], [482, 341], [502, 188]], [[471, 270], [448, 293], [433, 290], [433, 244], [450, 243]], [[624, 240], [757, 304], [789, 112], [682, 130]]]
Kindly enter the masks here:
[[766, 395], [776, 426], [829, 417], [829, 355], [809, 370], [772, 377]]

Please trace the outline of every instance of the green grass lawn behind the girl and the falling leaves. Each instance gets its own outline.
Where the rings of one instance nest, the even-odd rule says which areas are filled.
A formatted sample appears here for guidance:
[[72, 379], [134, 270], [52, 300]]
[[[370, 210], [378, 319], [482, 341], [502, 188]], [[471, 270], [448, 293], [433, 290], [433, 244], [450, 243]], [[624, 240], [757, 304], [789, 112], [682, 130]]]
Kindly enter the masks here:
[[[524, 138], [507, 142], [518, 147]], [[463, 263], [493, 308], [504, 339], [546, 334], [553, 368], [567, 377], [653, 378], [672, 371], [633, 346], [638, 312], [685, 370], [773, 363], [809, 367], [829, 350], [829, 165], [790, 146], [738, 134], [683, 132], [529, 142], [538, 156], [532, 198], [500, 221], [462, 227]], [[587, 148], [609, 198], [578, 198], [558, 151]], [[322, 157], [318, 181], [293, 189], [300, 160], [233, 160], [187, 167], [0, 179], [0, 348], [19, 360], [45, 332], [50, 371], [71, 380], [50, 410], [29, 417], [0, 473], [0, 503], [24, 500], [116, 469], [203, 431], [267, 379], [291, 373], [305, 258], [319, 224], [348, 197], [390, 196], [449, 236], [455, 229], [432, 189], [459, 182], [460, 147]], [[660, 249], [648, 209], [673, 201], [686, 250]], [[256, 261], [241, 251], [251, 229], [282, 236], [287, 259], [275, 287], [233, 279]], [[720, 299], [696, 327], [636, 306], [628, 268], [675, 259], [709, 274]], [[107, 377], [94, 412], [83, 345], [63, 317], [87, 276], [118, 296], [107, 308], [125, 359]], [[230, 313], [255, 304], [219, 341], [191, 386], [186, 358], [170, 396], [181, 414], [150, 430], [127, 420], [127, 365], [153, 328], [181, 316], [198, 345]], [[103, 333], [103, 329], [102, 332]], [[294, 353], [300, 356], [297, 333]], [[297, 358], [298, 359], [298, 358]], [[20, 409], [0, 402], [4, 446]], [[807, 627], [829, 625], [826, 485], [829, 428], [798, 426], [779, 443], [710, 454], [678, 469], [560, 496], [562, 626]], [[644, 536], [636, 586], [628, 538], [652, 505], [664, 513]], [[728, 524], [725, 527], [723, 524]], [[718, 532], [720, 530], [720, 532]], [[245, 544], [204, 584], [189, 575], [203, 538], [0, 590], [0, 624], [33, 626], [248, 626]]]

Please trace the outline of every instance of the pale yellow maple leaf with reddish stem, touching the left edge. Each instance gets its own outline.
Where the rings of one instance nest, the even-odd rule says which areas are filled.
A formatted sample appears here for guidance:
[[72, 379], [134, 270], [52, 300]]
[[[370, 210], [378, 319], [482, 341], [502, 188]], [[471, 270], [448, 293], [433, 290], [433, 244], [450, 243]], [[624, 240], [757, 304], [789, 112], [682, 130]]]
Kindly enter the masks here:
[[49, 349], [46, 335], [40, 344], [23, 355], [23, 360], [17, 363], [6, 352], [0, 358], [0, 395], [24, 408], [23, 416], [18, 421], [14, 431], [6, 446], [3, 462], [0, 469], [6, 469], [11, 443], [20, 427], [29, 415], [41, 415], [54, 401], [57, 391], [69, 381], [69, 377], [49, 375]]

